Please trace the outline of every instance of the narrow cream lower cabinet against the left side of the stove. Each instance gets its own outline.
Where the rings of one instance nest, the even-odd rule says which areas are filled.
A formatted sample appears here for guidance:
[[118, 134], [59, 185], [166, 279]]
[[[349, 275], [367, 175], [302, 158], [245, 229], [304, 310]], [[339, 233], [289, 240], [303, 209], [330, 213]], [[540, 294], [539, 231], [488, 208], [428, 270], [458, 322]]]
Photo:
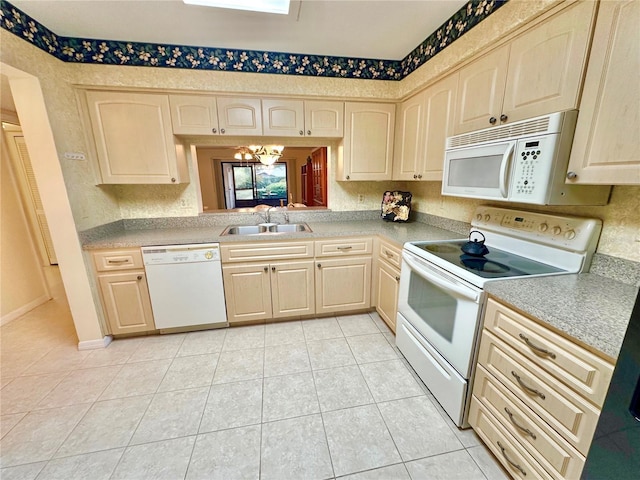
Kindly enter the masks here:
[[374, 302], [376, 311], [394, 333], [398, 313], [401, 259], [400, 248], [384, 240], [379, 241], [374, 276]]

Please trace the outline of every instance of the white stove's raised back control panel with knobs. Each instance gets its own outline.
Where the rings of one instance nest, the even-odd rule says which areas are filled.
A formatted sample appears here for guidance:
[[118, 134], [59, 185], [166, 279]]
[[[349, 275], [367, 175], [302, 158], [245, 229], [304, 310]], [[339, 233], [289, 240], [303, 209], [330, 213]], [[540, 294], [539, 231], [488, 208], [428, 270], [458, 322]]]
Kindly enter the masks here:
[[595, 218], [479, 206], [471, 220], [471, 226], [480, 231], [503, 233], [546, 245], [585, 251], [591, 247], [595, 248], [602, 221]]

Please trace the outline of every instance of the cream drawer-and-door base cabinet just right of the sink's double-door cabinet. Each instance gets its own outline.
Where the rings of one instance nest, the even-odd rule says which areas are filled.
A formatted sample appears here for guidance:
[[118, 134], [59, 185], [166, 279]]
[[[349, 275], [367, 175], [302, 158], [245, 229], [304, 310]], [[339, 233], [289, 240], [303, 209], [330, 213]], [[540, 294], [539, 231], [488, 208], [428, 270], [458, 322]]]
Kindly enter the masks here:
[[316, 313], [371, 307], [372, 251], [372, 238], [316, 241]]

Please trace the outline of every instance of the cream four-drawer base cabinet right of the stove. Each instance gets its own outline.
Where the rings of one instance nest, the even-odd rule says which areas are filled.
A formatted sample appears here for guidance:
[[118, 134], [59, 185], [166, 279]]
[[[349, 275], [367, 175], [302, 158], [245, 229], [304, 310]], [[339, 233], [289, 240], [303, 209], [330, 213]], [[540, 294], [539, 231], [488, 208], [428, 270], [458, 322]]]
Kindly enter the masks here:
[[494, 299], [469, 423], [514, 478], [578, 479], [613, 365]]

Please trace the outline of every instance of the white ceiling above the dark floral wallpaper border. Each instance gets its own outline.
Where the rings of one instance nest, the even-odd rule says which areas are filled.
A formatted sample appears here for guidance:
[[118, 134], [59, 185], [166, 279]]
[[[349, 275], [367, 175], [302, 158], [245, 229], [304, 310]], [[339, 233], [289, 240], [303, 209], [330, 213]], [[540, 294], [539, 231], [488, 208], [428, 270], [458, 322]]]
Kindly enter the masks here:
[[182, 0], [10, 0], [60, 36], [402, 60], [466, 0], [292, 0], [289, 15]]

